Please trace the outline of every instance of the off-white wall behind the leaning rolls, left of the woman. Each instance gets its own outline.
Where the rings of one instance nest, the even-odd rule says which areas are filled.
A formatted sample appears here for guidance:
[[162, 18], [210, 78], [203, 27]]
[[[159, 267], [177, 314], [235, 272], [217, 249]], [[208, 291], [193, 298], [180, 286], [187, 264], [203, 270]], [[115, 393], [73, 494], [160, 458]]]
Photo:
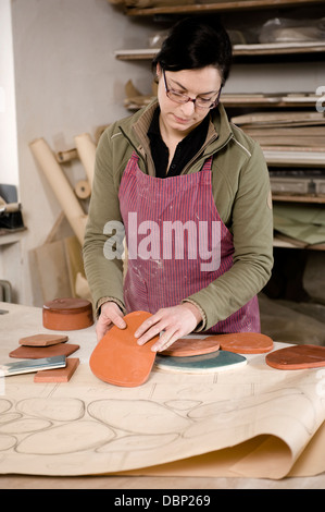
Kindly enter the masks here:
[[[124, 45], [141, 46], [147, 32], [107, 0], [11, 4], [20, 190], [27, 227], [21, 242], [23, 276], [14, 287], [15, 298], [29, 305], [37, 279], [29, 271], [29, 252], [46, 241], [61, 211], [29, 143], [43, 137], [60, 151], [75, 147], [78, 134], [95, 136], [99, 125], [128, 114], [123, 107], [126, 82], [133, 78], [141, 90], [150, 89], [151, 72], [149, 63], [136, 66], [115, 59], [114, 51]], [[86, 178], [79, 161], [64, 172], [72, 184]]]

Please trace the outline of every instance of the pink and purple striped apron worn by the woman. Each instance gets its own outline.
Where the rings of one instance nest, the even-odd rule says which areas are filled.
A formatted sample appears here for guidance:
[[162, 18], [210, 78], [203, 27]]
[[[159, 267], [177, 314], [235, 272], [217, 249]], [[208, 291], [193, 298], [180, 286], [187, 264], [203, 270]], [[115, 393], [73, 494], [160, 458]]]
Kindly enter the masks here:
[[[200, 172], [160, 179], [139, 169], [136, 153], [127, 162], [118, 198], [128, 247], [128, 313], [179, 304], [233, 266], [233, 235], [213, 200], [211, 164], [212, 157]], [[257, 296], [205, 332], [243, 331], [260, 332]]]

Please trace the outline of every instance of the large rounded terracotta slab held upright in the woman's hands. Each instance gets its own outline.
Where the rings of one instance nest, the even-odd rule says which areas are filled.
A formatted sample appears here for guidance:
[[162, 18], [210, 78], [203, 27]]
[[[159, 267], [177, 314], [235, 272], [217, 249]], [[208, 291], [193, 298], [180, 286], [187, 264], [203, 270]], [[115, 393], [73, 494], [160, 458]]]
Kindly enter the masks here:
[[124, 317], [125, 329], [113, 326], [93, 350], [89, 365], [96, 377], [115, 386], [136, 387], [149, 378], [155, 352], [151, 346], [154, 337], [145, 345], [138, 345], [135, 332], [151, 316], [147, 312], [134, 312]]

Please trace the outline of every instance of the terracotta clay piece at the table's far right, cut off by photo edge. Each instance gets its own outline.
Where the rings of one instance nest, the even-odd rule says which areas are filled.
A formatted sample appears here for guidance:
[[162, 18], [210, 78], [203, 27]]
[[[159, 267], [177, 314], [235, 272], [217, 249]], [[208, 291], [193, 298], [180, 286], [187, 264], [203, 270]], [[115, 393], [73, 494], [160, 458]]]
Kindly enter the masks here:
[[267, 354], [265, 362], [277, 369], [304, 369], [325, 366], [325, 346], [292, 345]]

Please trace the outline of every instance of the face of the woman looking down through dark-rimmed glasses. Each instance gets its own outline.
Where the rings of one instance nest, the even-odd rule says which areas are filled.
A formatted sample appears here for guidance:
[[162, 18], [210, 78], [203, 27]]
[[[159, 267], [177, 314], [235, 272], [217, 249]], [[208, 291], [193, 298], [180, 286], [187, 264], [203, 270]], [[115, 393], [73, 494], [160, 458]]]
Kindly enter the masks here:
[[166, 95], [165, 81], [168, 89], [188, 96], [191, 99], [201, 98], [207, 105], [212, 103], [218, 97], [222, 84], [220, 72], [214, 66], [200, 70], [165, 71], [158, 64], [157, 74], [158, 100], [160, 103], [161, 127], [168, 134], [186, 136], [205, 118], [208, 108], [199, 108], [192, 101], [178, 103]]

